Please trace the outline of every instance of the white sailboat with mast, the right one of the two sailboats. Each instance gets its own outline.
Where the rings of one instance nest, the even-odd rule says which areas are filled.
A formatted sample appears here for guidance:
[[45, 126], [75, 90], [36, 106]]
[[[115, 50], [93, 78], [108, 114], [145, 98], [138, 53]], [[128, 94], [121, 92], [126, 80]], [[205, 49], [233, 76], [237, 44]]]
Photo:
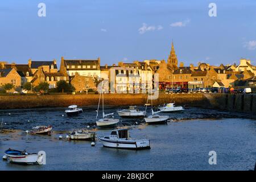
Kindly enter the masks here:
[[[148, 98], [147, 98], [147, 102], [148, 102]], [[146, 110], [147, 110], [147, 106], [146, 106]], [[148, 117], [145, 117], [144, 120], [147, 124], [162, 124], [162, 123], [166, 123], [166, 121], [169, 119], [168, 115], [159, 115], [158, 113], [160, 113], [160, 111], [154, 111], [153, 110], [153, 100], [152, 100], [152, 90], [151, 90], [151, 115], [149, 115]]]

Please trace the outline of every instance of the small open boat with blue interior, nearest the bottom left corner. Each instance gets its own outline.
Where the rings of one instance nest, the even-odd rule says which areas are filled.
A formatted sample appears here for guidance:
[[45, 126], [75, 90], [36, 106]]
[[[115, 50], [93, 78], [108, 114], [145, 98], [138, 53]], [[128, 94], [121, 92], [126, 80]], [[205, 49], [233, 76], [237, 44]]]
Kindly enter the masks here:
[[39, 151], [38, 154], [29, 154], [24, 151], [9, 148], [5, 151], [7, 160], [14, 164], [46, 164], [46, 152]]

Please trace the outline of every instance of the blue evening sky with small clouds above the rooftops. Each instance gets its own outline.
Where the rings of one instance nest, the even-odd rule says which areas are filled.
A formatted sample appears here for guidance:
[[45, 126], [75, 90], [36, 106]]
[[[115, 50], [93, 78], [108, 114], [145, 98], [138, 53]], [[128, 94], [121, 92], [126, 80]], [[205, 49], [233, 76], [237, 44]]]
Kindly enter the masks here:
[[[209, 16], [209, 3], [217, 16]], [[46, 16], [38, 16], [39, 3]], [[0, 61], [97, 59], [256, 64], [256, 1], [9, 0], [0, 2]]]

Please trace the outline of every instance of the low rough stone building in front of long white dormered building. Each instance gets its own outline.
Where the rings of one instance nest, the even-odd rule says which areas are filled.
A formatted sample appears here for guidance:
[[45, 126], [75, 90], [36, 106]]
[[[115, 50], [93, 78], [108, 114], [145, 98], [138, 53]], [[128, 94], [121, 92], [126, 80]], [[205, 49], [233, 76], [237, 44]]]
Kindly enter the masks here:
[[91, 76], [81, 76], [79, 73], [75, 73], [75, 76], [71, 76], [71, 85], [76, 89], [76, 92], [86, 92], [89, 89], [96, 90], [96, 83]]

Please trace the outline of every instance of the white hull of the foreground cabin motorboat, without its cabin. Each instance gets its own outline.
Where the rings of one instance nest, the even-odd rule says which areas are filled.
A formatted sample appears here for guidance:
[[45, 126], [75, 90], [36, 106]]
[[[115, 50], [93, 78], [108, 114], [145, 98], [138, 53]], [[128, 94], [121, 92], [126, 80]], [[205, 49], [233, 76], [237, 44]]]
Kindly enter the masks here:
[[135, 140], [109, 140], [100, 138], [101, 143], [104, 147], [108, 148], [120, 148], [129, 150], [143, 150], [150, 148], [150, 141], [135, 141]]

